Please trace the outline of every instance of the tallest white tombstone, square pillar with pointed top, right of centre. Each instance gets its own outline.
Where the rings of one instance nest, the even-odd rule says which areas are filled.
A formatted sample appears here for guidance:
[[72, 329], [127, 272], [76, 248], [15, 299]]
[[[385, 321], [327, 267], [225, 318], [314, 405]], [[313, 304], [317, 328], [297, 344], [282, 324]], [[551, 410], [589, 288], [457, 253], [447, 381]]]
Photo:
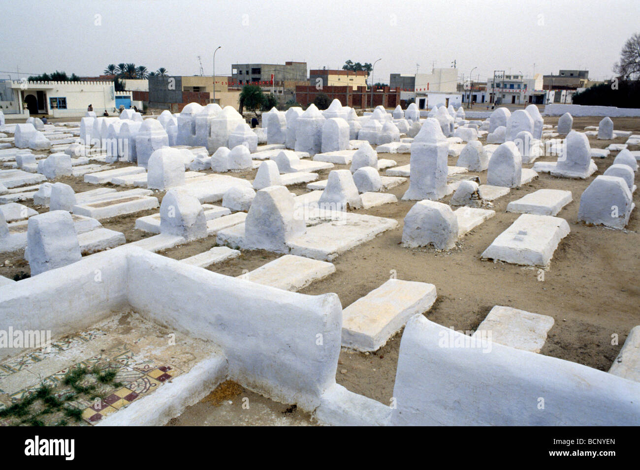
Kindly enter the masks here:
[[447, 194], [447, 153], [440, 122], [427, 118], [411, 145], [409, 189], [403, 200], [438, 200]]

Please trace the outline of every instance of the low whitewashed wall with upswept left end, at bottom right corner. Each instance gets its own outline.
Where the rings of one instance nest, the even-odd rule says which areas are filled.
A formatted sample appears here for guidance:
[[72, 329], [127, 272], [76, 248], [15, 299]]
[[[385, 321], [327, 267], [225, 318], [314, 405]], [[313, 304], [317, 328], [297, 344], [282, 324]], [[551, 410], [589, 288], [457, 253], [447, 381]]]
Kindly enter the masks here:
[[422, 315], [407, 322], [392, 425], [640, 425], [640, 383], [497, 343], [443, 347], [461, 336]]

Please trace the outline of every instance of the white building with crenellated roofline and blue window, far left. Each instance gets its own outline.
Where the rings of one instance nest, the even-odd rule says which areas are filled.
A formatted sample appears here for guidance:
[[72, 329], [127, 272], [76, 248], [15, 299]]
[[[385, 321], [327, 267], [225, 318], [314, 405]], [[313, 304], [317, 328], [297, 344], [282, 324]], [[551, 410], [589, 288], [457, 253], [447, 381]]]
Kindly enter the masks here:
[[113, 82], [29, 82], [0, 83], [0, 106], [4, 114], [45, 114], [50, 118], [82, 117], [91, 104], [100, 116], [115, 113]]

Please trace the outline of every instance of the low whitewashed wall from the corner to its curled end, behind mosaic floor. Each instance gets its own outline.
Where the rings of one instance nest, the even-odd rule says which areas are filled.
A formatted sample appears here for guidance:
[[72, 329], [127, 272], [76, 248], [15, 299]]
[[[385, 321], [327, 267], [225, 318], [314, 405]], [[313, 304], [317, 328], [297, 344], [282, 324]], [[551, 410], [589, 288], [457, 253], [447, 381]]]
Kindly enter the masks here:
[[246, 388], [312, 411], [335, 384], [336, 294], [287, 292], [143, 250], [129, 255], [127, 286], [138, 313], [219, 345], [230, 379]]

